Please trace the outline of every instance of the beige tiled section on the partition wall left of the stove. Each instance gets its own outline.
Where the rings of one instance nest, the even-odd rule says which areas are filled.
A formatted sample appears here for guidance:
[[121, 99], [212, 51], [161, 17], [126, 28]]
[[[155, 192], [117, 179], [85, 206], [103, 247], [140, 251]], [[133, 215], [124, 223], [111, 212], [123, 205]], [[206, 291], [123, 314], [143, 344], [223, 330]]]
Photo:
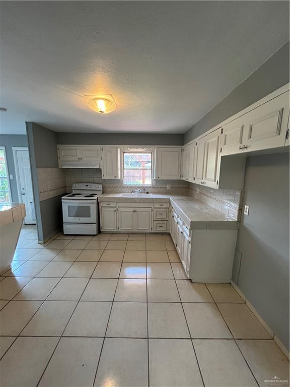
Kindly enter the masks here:
[[66, 192], [65, 170], [37, 168], [39, 198], [42, 202]]

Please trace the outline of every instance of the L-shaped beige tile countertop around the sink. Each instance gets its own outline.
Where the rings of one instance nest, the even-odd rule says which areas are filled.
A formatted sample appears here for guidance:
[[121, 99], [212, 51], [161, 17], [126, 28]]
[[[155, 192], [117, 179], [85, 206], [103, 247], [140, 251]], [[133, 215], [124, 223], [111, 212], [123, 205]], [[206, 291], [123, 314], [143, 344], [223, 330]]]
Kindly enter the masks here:
[[239, 222], [205, 203], [182, 195], [153, 195], [126, 193], [103, 193], [99, 202], [122, 203], [171, 203], [185, 225], [190, 229], [238, 229]]

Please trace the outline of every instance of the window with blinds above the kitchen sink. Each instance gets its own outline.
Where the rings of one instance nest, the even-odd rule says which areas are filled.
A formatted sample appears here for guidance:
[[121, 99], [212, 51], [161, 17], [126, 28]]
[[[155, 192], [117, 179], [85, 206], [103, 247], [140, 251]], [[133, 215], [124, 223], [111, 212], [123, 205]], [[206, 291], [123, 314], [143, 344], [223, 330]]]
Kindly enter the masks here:
[[153, 152], [123, 152], [123, 184], [152, 184]]

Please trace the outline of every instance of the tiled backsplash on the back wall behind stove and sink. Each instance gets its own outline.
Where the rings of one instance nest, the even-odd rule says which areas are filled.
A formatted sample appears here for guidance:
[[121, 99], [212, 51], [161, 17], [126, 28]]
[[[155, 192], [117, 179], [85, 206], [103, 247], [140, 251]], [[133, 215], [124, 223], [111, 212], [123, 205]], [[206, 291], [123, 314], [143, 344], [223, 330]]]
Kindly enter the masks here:
[[[139, 186], [124, 186], [122, 179], [102, 179], [101, 169], [65, 169], [65, 180], [67, 192], [71, 191], [74, 183], [99, 183], [103, 184], [103, 191], [106, 193], [131, 192]], [[166, 185], [170, 184], [171, 188], [167, 189]], [[156, 185], [146, 186], [146, 192], [151, 193], [172, 193], [188, 194], [188, 182], [182, 180], [156, 180]]]

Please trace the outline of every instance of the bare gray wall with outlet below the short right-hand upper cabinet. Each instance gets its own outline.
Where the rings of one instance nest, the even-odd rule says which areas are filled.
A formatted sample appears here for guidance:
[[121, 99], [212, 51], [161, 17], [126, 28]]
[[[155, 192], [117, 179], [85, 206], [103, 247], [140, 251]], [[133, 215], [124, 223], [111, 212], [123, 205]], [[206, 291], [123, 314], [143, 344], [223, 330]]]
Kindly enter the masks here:
[[249, 157], [238, 286], [289, 349], [289, 154]]

